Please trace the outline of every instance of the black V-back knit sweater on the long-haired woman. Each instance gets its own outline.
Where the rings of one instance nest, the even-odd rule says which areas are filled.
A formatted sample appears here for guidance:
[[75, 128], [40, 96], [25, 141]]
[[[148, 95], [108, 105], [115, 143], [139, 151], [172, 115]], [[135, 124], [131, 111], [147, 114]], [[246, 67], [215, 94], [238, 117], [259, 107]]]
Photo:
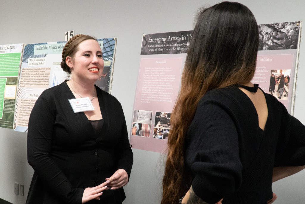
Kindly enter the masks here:
[[275, 97], [265, 98], [264, 130], [237, 86], [211, 90], [200, 100], [186, 136], [185, 165], [203, 201], [266, 203], [274, 167], [305, 165], [305, 127]]

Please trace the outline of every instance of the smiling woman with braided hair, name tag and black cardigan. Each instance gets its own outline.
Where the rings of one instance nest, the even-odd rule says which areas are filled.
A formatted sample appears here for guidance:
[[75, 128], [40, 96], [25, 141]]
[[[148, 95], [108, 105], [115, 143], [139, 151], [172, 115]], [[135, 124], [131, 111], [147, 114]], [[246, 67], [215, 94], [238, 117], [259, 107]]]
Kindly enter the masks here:
[[[62, 57], [71, 79], [45, 90], [29, 119], [28, 162], [35, 172], [26, 203], [122, 203], [133, 153], [121, 104], [95, 86], [104, 67], [101, 47], [76, 35]], [[94, 109], [75, 111], [71, 99]]]

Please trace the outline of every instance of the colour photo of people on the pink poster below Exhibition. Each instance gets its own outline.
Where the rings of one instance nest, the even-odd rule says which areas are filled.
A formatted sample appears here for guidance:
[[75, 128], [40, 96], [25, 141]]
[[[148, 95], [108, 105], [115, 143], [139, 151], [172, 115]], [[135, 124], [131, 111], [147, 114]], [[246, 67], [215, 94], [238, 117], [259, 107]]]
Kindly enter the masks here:
[[288, 100], [290, 69], [271, 70], [269, 93], [281, 100]]

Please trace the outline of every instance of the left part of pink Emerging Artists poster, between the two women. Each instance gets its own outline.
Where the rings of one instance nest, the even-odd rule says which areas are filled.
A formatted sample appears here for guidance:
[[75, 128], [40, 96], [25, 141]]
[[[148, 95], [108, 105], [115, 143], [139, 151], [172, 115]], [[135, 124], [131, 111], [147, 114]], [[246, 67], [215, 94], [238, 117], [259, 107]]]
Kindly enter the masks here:
[[[143, 35], [133, 122], [130, 126], [132, 148], [165, 152], [170, 114], [178, 96], [191, 35], [192, 31]], [[145, 122], [136, 121], [140, 110], [149, 111], [151, 117], [146, 117]], [[147, 125], [149, 129], [145, 129]], [[137, 130], [145, 130], [142, 131], [145, 137], [141, 137]]]

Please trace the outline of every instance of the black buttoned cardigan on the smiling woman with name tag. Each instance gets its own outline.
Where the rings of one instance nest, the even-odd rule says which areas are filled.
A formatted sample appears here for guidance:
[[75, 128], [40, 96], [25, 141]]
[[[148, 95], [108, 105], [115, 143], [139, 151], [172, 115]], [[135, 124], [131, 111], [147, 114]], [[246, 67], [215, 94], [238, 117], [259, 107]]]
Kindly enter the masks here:
[[[29, 119], [27, 154], [34, 169], [27, 204], [81, 203], [84, 188], [97, 186], [117, 169], [130, 176], [133, 153], [121, 104], [96, 87], [104, 119], [95, 133], [84, 112], [74, 113], [75, 98], [66, 82], [46, 89]], [[89, 203], [121, 203], [124, 190], [107, 190]]]

